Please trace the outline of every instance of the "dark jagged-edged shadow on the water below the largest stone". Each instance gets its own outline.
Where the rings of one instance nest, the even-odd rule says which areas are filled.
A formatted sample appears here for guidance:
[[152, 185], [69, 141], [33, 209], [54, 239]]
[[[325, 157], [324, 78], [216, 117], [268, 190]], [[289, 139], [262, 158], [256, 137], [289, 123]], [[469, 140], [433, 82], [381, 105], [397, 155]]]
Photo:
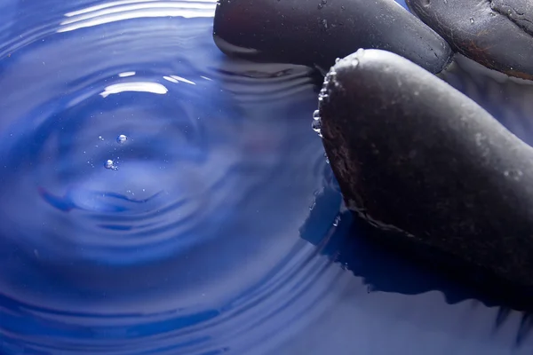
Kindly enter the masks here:
[[529, 338], [533, 328], [531, 292], [434, 250], [406, 244], [405, 238], [378, 231], [347, 210], [340, 212], [333, 228], [321, 224], [324, 216], [341, 203], [338, 186], [331, 175], [328, 167], [326, 186], [317, 194], [314, 208], [300, 229], [301, 237], [320, 248], [322, 255], [362, 278], [369, 293], [414, 296], [439, 291], [447, 304], [473, 300], [473, 306], [481, 303], [498, 307], [495, 332], [513, 311], [521, 312], [515, 346], [520, 347]]

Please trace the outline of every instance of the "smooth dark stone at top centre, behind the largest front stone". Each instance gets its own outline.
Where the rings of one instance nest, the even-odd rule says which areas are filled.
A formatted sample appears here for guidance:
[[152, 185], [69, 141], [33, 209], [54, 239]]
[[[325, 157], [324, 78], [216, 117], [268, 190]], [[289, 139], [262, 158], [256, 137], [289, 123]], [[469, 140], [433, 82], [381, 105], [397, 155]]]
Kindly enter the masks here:
[[221, 51], [327, 71], [359, 48], [392, 51], [432, 73], [449, 44], [391, 0], [220, 0], [213, 24]]

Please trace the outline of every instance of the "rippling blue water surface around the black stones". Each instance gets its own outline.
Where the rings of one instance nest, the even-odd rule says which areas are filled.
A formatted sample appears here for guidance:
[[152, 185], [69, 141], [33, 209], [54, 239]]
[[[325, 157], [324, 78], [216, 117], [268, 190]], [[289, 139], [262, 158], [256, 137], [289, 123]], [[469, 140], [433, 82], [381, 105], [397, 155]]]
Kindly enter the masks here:
[[0, 2], [0, 354], [533, 351], [361, 238], [314, 72], [228, 59], [215, 6]]

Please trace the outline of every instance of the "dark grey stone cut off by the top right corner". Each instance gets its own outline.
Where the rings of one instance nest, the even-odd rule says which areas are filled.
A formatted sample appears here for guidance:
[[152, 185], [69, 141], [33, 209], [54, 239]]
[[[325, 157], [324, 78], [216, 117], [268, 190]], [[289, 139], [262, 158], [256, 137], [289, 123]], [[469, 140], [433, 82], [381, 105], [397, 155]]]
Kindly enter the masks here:
[[466, 57], [533, 80], [529, 0], [406, 0], [410, 10]]

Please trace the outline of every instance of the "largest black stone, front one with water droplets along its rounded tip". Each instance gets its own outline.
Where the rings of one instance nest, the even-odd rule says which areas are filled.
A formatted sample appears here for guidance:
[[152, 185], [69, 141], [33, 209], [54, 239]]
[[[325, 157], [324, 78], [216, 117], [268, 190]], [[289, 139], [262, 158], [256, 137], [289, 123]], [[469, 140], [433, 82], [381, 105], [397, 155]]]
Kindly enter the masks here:
[[322, 142], [348, 209], [533, 288], [533, 148], [391, 52], [340, 60], [321, 92]]

